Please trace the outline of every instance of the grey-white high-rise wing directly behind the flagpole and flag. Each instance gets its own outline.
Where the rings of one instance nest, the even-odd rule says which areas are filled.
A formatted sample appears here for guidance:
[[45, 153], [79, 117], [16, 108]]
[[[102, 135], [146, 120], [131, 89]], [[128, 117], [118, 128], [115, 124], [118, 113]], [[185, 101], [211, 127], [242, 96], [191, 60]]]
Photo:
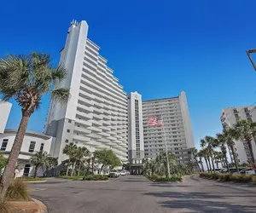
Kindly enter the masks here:
[[[148, 118], [162, 116], [162, 127], [148, 126]], [[189, 163], [189, 148], [195, 147], [194, 136], [189, 118], [186, 94], [177, 97], [143, 101], [143, 130], [145, 158], [154, 159], [165, 151], [165, 136], [168, 151], [177, 156], [182, 163]]]

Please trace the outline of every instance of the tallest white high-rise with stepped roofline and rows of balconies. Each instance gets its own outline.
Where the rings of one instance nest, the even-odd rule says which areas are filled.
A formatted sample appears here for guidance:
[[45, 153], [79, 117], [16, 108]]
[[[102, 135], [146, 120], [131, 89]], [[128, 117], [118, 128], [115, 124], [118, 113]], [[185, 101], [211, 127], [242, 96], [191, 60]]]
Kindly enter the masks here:
[[44, 133], [56, 138], [52, 155], [59, 163], [67, 143], [96, 149], [112, 149], [122, 162], [127, 161], [127, 97], [100, 47], [88, 39], [88, 25], [73, 21], [61, 49], [60, 65], [67, 69], [61, 84], [70, 89], [67, 104], [51, 101]]

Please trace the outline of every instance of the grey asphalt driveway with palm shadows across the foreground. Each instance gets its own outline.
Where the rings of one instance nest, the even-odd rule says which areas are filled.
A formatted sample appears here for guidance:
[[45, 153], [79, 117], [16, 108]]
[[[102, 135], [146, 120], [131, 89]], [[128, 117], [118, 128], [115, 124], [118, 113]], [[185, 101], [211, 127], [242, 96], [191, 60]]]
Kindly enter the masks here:
[[256, 187], [197, 176], [182, 183], [156, 183], [143, 176], [108, 182], [51, 179], [30, 187], [50, 213], [256, 212]]

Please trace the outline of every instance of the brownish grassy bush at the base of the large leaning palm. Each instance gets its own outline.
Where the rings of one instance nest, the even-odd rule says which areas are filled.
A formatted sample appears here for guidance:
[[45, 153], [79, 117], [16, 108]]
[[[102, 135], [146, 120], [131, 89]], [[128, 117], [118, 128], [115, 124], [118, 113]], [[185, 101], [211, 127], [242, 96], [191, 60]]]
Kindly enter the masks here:
[[12, 181], [7, 189], [5, 197], [6, 199], [28, 199], [26, 183], [20, 178]]

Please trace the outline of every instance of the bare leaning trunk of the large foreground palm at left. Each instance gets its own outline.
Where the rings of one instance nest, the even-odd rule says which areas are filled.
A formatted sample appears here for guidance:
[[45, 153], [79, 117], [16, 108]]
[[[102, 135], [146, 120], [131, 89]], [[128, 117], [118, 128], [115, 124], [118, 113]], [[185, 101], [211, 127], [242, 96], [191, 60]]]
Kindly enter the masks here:
[[17, 131], [17, 135], [15, 136], [15, 142], [12, 147], [11, 152], [9, 153], [8, 162], [3, 171], [3, 176], [0, 182], [0, 198], [3, 199], [7, 188], [9, 187], [10, 181], [15, 173], [15, 166], [17, 159], [19, 157], [20, 149], [22, 146], [22, 142], [26, 133], [26, 126], [29, 120], [29, 115], [22, 115], [19, 130]]

